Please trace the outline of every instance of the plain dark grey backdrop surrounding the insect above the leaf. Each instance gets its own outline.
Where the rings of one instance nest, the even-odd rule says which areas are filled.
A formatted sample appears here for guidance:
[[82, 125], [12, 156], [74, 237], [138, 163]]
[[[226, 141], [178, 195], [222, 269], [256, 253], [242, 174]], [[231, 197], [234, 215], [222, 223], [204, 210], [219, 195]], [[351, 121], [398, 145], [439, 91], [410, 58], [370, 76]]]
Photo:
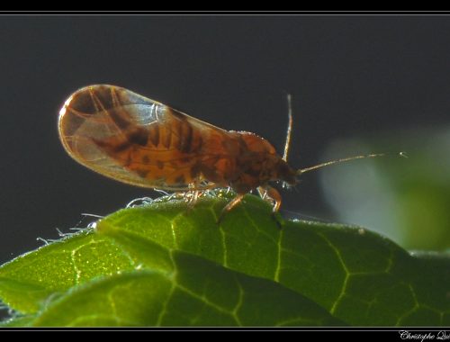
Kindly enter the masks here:
[[[333, 139], [448, 122], [449, 66], [447, 16], [2, 16], [0, 263], [82, 212], [155, 195], [67, 156], [58, 110], [81, 86], [121, 85], [280, 152], [290, 92], [300, 167]], [[333, 219], [317, 175], [282, 193], [284, 210]]]

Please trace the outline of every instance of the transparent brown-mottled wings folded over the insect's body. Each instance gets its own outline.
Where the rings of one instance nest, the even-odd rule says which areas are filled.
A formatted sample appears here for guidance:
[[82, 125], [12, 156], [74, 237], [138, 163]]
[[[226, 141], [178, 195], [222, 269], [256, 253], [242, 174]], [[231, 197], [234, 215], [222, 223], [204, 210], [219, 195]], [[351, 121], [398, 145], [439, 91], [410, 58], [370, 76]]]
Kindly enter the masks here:
[[[60, 139], [84, 166], [124, 183], [166, 190], [220, 184], [232, 133], [114, 85], [90, 85], [59, 112]], [[224, 165], [223, 165], [224, 166]]]

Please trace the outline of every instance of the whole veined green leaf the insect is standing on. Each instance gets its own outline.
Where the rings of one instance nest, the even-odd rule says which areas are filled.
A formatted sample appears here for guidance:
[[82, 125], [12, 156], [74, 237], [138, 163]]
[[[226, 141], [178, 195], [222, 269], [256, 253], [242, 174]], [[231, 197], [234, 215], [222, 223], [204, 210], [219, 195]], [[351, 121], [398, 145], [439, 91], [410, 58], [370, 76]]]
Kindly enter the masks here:
[[164, 198], [117, 211], [0, 267], [0, 298], [36, 314], [34, 325], [450, 324], [446, 255], [411, 256], [357, 227], [275, 220], [251, 195], [219, 226], [228, 201], [210, 193], [191, 211]]

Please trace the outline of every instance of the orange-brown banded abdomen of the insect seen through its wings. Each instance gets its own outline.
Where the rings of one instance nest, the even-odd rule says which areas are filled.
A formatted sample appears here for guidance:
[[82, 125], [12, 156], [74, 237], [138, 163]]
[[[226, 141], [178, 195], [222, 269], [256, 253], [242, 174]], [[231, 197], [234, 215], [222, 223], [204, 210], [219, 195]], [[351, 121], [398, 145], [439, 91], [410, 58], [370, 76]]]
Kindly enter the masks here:
[[167, 119], [147, 127], [122, 131], [121, 139], [96, 141], [121, 166], [149, 181], [174, 186], [193, 183], [202, 152], [202, 134], [190, 122], [167, 113]]

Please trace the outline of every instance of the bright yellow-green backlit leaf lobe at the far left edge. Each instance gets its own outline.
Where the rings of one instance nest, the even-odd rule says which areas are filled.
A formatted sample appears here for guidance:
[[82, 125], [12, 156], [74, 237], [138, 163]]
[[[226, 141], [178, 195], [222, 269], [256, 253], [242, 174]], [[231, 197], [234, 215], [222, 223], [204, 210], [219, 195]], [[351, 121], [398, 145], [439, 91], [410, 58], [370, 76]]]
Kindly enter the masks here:
[[55, 293], [100, 275], [132, 270], [110, 238], [91, 232], [63, 238], [0, 268], [0, 298], [15, 311], [34, 313]]

